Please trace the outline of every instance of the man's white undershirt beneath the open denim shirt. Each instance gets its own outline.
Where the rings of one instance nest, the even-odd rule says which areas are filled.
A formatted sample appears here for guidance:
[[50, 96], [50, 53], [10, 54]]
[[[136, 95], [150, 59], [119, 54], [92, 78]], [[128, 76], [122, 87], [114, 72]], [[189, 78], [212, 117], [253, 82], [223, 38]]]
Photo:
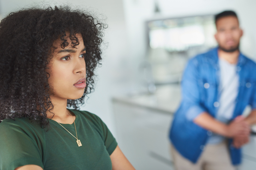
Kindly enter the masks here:
[[[238, 95], [239, 87], [239, 76], [236, 71], [236, 64], [230, 64], [225, 59], [219, 58], [220, 65], [220, 85], [219, 85], [219, 108], [217, 111], [216, 119], [227, 124], [232, 118], [236, 98]], [[208, 143], [218, 144], [221, 143], [225, 138], [213, 134]]]

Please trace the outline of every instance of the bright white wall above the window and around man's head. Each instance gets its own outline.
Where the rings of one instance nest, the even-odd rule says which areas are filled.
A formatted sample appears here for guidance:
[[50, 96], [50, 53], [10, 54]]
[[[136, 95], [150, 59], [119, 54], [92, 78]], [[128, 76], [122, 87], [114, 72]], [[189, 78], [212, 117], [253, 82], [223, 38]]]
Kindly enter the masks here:
[[[154, 14], [154, 2], [158, 1], [161, 14]], [[223, 10], [237, 12], [244, 29], [241, 51], [256, 59], [256, 1], [255, 0], [123, 0], [127, 22], [129, 47], [134, 56], [146, 55], [145, 20], [152, 18], [181, 17], [215, 14]]]

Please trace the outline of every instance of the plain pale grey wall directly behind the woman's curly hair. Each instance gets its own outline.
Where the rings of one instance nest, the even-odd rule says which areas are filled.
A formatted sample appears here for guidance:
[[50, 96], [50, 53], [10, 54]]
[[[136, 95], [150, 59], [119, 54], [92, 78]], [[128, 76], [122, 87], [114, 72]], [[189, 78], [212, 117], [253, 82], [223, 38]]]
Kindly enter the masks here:
[[[42, 4], [40, 0], [0, 0], [1, 16], [4, 17], [13, 10], [39, 3]], [[104, 31], [104, 42], [107, 44], [103, 45], [102, 66], [96, 71], [98, 77], [95, 92], [89, 94], [89, 99], [86, 100], [86, 105], [81, 110], [97, 114], [115, 136], [111, 96], [123, 93], [127, 86], [120, 84], [129, 84], [130, 80], [128, 71], [126, 71], [129, 66], [122, 0], [72, 0], [72, 3], [63, 0], [44, 2], [44, 4], [50, 4], [52, 7], [72, 5], [89, 8], [89, 11], [104, 14], [99, 15], [100, 18], [107, 18], [105, 22], [109, 27]]]

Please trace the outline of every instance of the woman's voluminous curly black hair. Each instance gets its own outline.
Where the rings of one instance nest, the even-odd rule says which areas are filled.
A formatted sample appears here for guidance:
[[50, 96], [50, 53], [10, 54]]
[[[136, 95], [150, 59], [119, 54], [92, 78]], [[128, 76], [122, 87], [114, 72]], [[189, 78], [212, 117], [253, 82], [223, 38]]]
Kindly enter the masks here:
[[66, 33], [76, 38], [81, 33], [86, 47], [86, 88], [80, 99], [69, 100], [67, 107], [79, 109], [94, 87], [94, 69], [101, 60], [100, 44], [105, 25], [97, 18], [70, 7], [28, 8], [10, 13], [0, 23], [0, 120], [26, 117], [48, 125], [46, 112], [53, 109], [48, 94], [47, 64], [57, 39], [67, 43]]

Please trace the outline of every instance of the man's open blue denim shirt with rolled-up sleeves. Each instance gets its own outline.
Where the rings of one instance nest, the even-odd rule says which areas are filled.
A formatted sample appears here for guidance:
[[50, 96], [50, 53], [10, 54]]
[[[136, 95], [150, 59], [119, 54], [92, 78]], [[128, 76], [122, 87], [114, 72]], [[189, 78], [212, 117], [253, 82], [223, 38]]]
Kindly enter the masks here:
[[[198, 126], [193, 119], [202, 112], [216, 117], [219, 102], [220, 68], [218, 48], [197, 55], [188, 61], [181, 88], [181, 104], [170, 129], [169, 138], [176, 150], [185, 158], [196, 163], [204, 150], [210, 131]], [[232, 120], [241, 115], [246, 106], [256, 109], [256, 64], [240, 53], [237, 63], [239, 89]], [[208, 83], [208, 84], [206, 84]], [[206, 84], [206, 85], [205, 85]], [[234, 165], [242, 160], [241, 149], [235, 149], [232, 139], [228, 140]]]

